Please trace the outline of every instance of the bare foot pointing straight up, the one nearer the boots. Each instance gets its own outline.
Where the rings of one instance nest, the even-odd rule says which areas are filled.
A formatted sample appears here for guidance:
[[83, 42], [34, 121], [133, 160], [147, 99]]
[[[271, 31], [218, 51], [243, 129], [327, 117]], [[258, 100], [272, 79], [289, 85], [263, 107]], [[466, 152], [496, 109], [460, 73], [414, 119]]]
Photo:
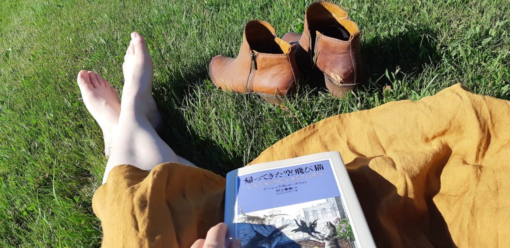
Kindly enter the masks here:
[[144, 115], [152, 127], [157, 129], [162, 118], [152, 97], [152, 60], [145, 40], [139, 33], [131, 34], [122, 71], [124, 73], [122, 109], [132, 109], [133, 113]]

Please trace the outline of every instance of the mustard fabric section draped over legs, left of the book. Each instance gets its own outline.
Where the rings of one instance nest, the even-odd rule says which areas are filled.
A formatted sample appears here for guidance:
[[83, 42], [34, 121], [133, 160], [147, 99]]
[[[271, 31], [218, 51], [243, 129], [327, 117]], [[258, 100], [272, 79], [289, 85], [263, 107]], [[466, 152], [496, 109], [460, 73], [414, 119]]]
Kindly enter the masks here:
[[223, 221], [225, 179], [179, 163], [115, 166], [94, 193], [103, 247], [190, 247]]

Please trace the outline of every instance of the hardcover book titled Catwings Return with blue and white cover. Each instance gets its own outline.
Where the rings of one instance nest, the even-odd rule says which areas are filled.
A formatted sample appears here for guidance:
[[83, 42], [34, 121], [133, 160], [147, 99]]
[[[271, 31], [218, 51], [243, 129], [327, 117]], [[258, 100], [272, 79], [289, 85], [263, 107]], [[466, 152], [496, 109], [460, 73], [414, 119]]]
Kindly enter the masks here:
[[375, 247], [338, 152], [229, 172], [224, 221], [245, 248]]

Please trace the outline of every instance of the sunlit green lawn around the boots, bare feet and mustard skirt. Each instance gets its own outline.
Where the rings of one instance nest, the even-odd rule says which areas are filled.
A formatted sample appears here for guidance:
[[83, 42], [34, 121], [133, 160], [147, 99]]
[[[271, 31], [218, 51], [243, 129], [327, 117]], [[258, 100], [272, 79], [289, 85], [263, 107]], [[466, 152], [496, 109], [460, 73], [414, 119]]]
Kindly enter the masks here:
[[419, 100], [455, 83], [510, 98], [510, 2], [336, 2], [361, 28], [369, 80], [343, 100], [303, 85], [285, 108], [216, 89], [207, 65], [215, 55], [237, 54], [250, 19], [271, 22], [279, 36], [296, 31], [310, 1], [0, 5], [0, 246], [99, 246], [91, 197], [106, 159], [75, 77], [93, 69], [120, 92], [132, 31], [146, 37], [154, 58], [164, 139], [221, 175], [328, 116]]

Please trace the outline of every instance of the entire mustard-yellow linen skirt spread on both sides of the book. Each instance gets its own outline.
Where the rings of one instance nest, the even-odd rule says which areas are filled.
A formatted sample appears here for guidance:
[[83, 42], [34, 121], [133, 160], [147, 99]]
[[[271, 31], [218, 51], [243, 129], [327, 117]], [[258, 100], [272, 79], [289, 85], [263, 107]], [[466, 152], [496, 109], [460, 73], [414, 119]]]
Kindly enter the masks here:
[[[379, 247], [506, 246], [509, 120], [510, 102], [455, 85], [324, 119], [251, 164], [339, 151]], [[93, 200], [104, 246], [189, 247], [221, 221], [224, 182], [213, 173], [179, 164], [113, 171]]]

